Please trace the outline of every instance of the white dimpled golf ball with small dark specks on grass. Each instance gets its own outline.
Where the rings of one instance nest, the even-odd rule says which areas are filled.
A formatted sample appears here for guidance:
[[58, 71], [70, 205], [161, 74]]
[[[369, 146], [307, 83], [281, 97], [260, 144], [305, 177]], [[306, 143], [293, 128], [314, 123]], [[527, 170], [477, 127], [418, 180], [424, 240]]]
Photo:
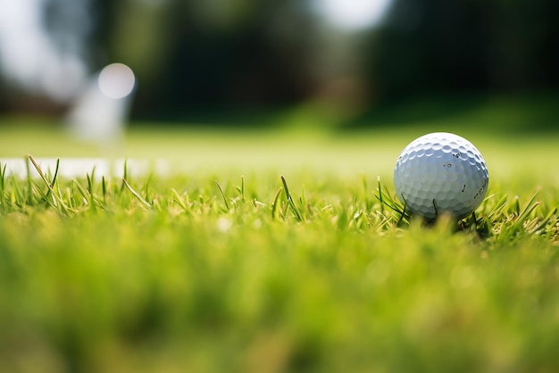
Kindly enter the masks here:
[[428, 220], [442, 213], [463, 219], [483, 201], [488, 169], [468, 140], [436, 132], [413, 140], [394, 168], [394, 187], [405, 210]]

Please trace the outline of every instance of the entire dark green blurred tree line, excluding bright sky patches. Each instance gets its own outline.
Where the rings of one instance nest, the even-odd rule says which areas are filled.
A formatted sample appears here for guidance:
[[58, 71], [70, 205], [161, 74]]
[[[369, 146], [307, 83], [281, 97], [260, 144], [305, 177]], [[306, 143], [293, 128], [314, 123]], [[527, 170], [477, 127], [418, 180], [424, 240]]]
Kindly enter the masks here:
[[[74, 0], [45, 1], [46, 29], [63, 43]], [[135, 71], [137, 118], [313, 99], [363, 109], [559, 83], [555, 0], [393, 0], [379, 25], [355, 32], [331, 27], [309, 4], [89, 0], [86, 58], [92, 70], [124, 62]]]

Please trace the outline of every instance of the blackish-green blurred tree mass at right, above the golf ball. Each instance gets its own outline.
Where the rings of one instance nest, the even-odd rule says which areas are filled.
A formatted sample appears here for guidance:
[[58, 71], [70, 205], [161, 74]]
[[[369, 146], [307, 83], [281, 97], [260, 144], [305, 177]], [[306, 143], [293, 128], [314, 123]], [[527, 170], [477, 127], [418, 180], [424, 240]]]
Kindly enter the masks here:
[[368, 81], [388, 97], [557, 87], [557, 14], [553, 0], [395, 0]]

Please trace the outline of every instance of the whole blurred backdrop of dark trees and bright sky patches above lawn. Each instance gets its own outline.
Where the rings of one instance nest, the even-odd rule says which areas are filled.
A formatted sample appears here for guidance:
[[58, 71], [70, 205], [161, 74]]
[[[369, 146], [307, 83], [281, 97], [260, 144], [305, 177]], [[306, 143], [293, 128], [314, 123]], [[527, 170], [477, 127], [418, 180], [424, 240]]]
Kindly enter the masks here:
[[554, 0], [0, 0], [0, 116], [63, 118], [121, 62], [132, 123], [262, 126], [306, 105], [369, 128], [505, 97], [513, 128], [551, 130], [558, 13]]

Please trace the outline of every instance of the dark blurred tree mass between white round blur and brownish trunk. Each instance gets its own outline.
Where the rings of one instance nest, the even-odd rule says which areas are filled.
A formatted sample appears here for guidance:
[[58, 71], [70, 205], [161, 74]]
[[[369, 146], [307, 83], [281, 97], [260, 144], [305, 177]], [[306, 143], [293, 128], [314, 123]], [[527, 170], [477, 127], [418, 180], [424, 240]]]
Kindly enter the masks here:
[[100, 1], [101, 44], [109, 60], [138, 75], [139, 115], [294, 104], [313, 95], [317, 36], [305, 1]]

